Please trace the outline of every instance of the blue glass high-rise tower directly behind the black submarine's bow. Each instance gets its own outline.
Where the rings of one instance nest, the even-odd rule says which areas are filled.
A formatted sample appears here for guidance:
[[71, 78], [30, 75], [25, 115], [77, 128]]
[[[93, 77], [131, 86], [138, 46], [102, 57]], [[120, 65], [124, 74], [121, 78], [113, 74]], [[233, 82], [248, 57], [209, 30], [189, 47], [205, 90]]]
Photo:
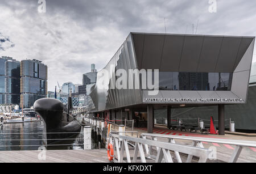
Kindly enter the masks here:
[[21, 61], [20, 76], [20, 102], [23, 108], [30, 108], [36, 100], [47, 97], [47, 66], [41, 61]]

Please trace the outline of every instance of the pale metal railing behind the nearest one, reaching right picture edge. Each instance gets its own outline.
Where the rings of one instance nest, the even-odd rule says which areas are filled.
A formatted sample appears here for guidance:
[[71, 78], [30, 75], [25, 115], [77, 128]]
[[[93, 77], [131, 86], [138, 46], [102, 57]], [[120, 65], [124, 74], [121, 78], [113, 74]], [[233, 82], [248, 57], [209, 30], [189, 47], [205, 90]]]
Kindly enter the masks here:
[[[256, 147], [256, 141], [241, 141], [241, 140], [233, 140], [233, 139], [215, 139], [215, 138], [200, 138], [200, 137], [183, 137], [183, 136], [175, 136], [175, 135], [159, 135], [159, 134], [141, 134], [143, 139], [147, 139], [147, 137], [150, 137], [153, 141], [158, 141], [157, 138], [167, 138], [168, 142], [176, 144], [175, 139], [182, 139], [186, 141], [192, 141], [191, 147], [199, 146], [201, 148], [204, 148], [203, 142], [209, 142], [209, 143], [219, 143], [224, 145], [234, 145], [236, 148], [233, 151], [232, 156], [229, 159], [229, 163], [236, 163], [241, 151], [244, 147]], [[158, 141], [159, 142], [159, 141]], [[149, 156], [151, 155], [151, 148], [147, 150], [147, 154]], [[179, 152], [175, 152], [175, 155], [177, 159], [181, 162]], [[187, 162], [191, 162], [193, 155], [188, 155]]]

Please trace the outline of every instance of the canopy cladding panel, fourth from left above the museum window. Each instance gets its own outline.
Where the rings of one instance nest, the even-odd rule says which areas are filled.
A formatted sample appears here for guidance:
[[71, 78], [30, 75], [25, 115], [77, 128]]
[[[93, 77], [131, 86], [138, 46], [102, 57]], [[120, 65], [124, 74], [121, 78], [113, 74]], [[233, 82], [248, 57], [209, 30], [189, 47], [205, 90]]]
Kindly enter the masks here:
[[204, 36], [185, 36], [179, 72], [196, 72]]

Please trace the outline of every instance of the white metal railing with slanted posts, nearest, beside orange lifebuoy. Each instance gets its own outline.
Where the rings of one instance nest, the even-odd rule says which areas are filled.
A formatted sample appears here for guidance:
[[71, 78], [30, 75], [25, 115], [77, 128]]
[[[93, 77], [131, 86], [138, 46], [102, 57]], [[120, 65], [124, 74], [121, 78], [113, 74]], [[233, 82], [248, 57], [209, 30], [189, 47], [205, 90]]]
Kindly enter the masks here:
[[[154, 160], [156, 163], [173, 163], [174, 160], [172, 159], [170, 151], [181, 152], [183, 154], [188, 154], [192, 156], [198, 156], [199, 163], [205, 163], [207, 162], [207, 159], [209, 158], [210, 154], [213, 152], [213, 150], [208, 150], [201, 147], [177, 145], [174, 143], [166, 143], [144, 138], [134, 138], [123, 135], [117, 135], [114, 133], [109, 134], [109, 142], [112, 143], [113, 145], [114, 162], [118, 163], [125, 162], [125, 160], [127, 163], [137, 163], [138, 155], [142, 163], [152, 162], [152, 160]], [[129, 148], [129, 143], [133, 143], [134, 147]], [[156, 147], [156, 156], [152, 156], [148, 153], [149, 149], [152, 149], [152, 147]], [[130, 151], [134, 151], [132, 159], [130, 156]], [[125, 153], [126, 157], [124, 158]], [[178, 162], [182, 161], [179, 160]]]

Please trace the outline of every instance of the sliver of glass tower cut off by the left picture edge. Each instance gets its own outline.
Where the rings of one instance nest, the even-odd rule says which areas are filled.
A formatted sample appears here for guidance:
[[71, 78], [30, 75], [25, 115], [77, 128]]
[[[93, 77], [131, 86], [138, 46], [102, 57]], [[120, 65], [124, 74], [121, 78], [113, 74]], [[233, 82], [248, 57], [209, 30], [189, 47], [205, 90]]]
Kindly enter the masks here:
[[5, 104], [5, 62], [11, 57], [0, 57], [0, 104]]

